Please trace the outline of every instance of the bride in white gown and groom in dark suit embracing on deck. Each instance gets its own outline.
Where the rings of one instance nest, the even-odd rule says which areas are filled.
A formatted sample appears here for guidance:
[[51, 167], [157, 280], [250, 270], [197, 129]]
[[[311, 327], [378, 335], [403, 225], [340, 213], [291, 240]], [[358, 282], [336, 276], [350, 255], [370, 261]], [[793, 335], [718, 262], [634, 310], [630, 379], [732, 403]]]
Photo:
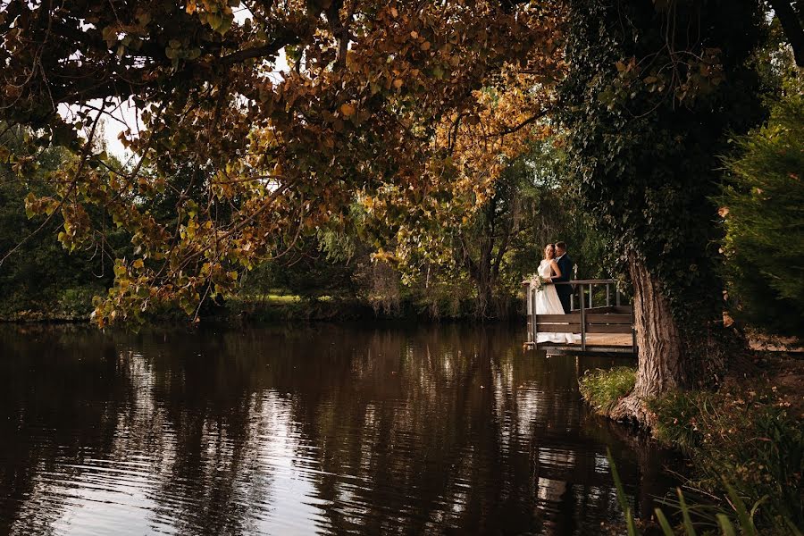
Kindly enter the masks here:
[[[544, 259], [539, 264], [541, 280], [552, 283], [570, 281], [573, 261], [566, 254], [566, 244], [556, 242], [544, 248]], [[542, 285], [536, 293], [536, 314], [568, 314], [572, 285]], [[538, 333], [536, 342], [575, 342], [580, 335], [573, 333]]]

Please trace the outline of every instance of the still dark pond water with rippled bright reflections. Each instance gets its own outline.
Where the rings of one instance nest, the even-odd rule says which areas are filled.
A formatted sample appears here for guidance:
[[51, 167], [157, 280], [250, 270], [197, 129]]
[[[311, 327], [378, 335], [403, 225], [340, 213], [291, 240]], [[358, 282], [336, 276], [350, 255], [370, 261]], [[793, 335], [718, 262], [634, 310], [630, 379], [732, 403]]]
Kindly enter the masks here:
[[524, 331], [0, 326], [0, 534], [594, 534], [664, 458]]

